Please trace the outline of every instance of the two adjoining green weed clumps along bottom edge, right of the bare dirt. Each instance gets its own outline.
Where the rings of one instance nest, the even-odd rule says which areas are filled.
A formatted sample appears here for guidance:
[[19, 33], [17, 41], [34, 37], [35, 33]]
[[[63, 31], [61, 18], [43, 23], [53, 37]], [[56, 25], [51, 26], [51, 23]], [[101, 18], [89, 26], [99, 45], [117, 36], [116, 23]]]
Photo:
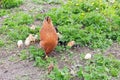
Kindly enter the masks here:
[[55, 66], [54, 70], [48, 75], [51, 80], [111, 80], [113, 77], [118, 80], [120, 74], [120, 60], [114, 57], [106, 57], [103, 54], [95, 54], [91, 60], [84, 60], [84, 66], [80, 66], [77, 73], [73, 76], [70, 69], [64, 67], [59, 69]]

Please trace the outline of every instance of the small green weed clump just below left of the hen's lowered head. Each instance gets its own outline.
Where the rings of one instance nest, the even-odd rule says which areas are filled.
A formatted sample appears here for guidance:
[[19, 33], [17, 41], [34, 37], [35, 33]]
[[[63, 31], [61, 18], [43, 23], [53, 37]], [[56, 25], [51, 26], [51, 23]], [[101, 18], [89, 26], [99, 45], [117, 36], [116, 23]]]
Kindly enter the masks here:
[[29, 52], [32, 55], [33, 60], [35, 60], [34, 65], [39, 67], [48, 67], [48, 65], [51, 62], [56, 63], [54, 58], [47, 58], [47, 60], [44, 59], [45, 54], [42, 49], [38, 49], [34, 46], [30, 46]]

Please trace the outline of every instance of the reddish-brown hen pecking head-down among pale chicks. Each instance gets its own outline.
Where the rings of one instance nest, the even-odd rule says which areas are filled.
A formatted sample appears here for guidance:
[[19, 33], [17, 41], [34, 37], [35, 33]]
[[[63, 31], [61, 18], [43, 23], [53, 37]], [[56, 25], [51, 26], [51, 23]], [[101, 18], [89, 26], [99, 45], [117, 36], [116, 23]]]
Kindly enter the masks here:
[[40, 47], [45, 51], [46, 57], [58, 44], [58, 35], [50, 17], [46, 17], [40, 30]]

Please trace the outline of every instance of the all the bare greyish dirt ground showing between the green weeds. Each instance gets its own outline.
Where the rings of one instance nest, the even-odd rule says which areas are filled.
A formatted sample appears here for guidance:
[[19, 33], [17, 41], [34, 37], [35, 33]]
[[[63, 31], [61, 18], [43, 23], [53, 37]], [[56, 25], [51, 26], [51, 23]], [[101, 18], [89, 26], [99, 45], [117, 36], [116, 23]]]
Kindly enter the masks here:
[[[26, 2], [19, 7], [19, 9], [28, 12], [32, 15], [35, 15], [36, 13], [45, 13], [52, 7], [56, 6], [59, 7], [60, 5], [38, 5], [33, 3], [32, 0], [26, 0]], [[16, 9], [12, 10], [13, 13], [15, 11]], [[7, 16], [3, 16], [0, 18], [0, 27], [2, 26], [2, 21], [6, 17]], [[33, 24], [40, 26], [41, 22], [35, 21]], [[7, 42], [7, 37], [4, 35], [0, 35], [0, 39], [3, 39], [6, 41], [6, 43], [9, 43]], [[16, 43], [0, 48], [0, 80], [46, 80], [47, 70], [33, 66], [34, 61], [30, 61], [29, 59], [21, 60], [19, 58], [21, 50], [22, 49], [17, 48]], [[56, 52], [52, 52], [55, 55], [51, 57], [54, 57], [58, 60], [58, 66], [60, 68], [67, 65], [71, 70], [76, 69], [76, 67], [79, 66], [79, 64], [84, 65], [84, 62], [81, 62], [80, 60], [80, 54], [96, 54], [102, 52], [105, 55], [113, 54], [116, 58], [120, 59], [120, 45], [115, 42], [112, 44], [111, 47], [109, 47], [105, 51], [92, 50], [88, 47], [77, 47], [71, 49], [70, 51], [72, 52], [71, 54], [73, 54], [72, 59], [68, 57], [68, 53], [58, 54]], [[62, 55], [64, 55], [64, 59], [59, 60], [62, 57]], [[73, 63], [69, 62], [69, 60], [73, 61]]]

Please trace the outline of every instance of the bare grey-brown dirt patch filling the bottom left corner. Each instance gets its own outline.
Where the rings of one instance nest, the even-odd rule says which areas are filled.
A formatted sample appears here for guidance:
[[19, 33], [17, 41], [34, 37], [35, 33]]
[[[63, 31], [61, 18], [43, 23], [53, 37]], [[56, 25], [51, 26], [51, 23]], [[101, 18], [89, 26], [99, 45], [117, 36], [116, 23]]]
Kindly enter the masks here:
[[[0, 65], [0, 80], [42, 80], [46, 74], [42, 68], [33, 66], [33, 62], [4, 60]], [[25, 79], [26, 80], [26, 79]]]

